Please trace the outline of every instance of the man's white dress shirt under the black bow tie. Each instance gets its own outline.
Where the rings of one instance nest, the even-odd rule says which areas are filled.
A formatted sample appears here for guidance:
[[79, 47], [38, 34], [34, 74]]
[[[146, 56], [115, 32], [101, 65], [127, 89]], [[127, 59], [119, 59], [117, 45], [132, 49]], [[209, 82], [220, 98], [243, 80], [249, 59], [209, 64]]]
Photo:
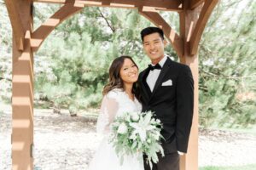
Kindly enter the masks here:
[[[166, 59], [167, 59], [167, 56], [165, 55], [165, 57], [163, 59], [161, 59], [160, 62], [158, 63], [162, 68], [166, 63]], [[153, 65], [153, 64], [151, 64], [151, 65]], [[160, 75], [160, 71], [161, 71], [160, 69], [154, 69], [153, 71], [149, 71], [149, 73], [148, 73], [148, 77], [147, 77], [146, 81], [148, 83], [148, 87], [150, 88], [151, 92], [153, 92], [154, 84]]]

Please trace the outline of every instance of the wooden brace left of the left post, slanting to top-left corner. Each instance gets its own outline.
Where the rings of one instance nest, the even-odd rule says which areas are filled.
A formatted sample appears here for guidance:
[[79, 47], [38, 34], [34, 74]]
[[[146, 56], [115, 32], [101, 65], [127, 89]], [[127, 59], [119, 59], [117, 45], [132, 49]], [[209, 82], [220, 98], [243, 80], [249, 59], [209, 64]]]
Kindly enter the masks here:
[[17, 4], [15, 3], [14, 0], [4, 0], [4, 1], [9, 13], [11, 26], [13, 28], [13, 36], [15, 38], [16, 47], [19, 50], [23, 50], [25, 31], [21, 24], [19, 10], [16, 6]]

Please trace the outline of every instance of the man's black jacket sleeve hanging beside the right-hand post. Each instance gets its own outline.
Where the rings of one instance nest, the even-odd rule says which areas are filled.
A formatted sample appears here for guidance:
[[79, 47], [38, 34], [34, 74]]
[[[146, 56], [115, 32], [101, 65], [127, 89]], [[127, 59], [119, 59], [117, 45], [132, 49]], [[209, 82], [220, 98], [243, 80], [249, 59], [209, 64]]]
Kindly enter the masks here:
[[177, 150], [188, 150], [194, 109], [194, 81], [189, 66], [183, 65], [177, 77]]

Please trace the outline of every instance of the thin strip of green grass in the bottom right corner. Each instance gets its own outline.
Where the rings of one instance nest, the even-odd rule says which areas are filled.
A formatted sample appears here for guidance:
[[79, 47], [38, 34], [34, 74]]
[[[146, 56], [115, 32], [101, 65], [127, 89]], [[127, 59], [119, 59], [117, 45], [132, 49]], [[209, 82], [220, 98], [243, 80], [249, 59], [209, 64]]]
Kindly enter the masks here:
[[200, 167], [199, 170], [255, 170], [256, 164], [245, 165], [239, 167]]

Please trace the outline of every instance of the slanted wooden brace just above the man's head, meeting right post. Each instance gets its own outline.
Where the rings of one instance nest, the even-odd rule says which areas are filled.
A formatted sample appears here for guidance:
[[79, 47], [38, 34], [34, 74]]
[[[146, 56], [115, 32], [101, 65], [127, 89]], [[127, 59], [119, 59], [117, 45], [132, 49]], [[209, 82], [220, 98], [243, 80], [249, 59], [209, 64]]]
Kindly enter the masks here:
[[169, 42], [171, 42], [172, 48], [176, 51], [178, 56], [183, 55], [183, 39], [180, 38], [176, 31], [162, 18], [162, 16], [154, 11], [154, 8], [139, 8], [139, 14], [142, 14], [145, 18], [154, 23], [155, 26], [160, 27]]

